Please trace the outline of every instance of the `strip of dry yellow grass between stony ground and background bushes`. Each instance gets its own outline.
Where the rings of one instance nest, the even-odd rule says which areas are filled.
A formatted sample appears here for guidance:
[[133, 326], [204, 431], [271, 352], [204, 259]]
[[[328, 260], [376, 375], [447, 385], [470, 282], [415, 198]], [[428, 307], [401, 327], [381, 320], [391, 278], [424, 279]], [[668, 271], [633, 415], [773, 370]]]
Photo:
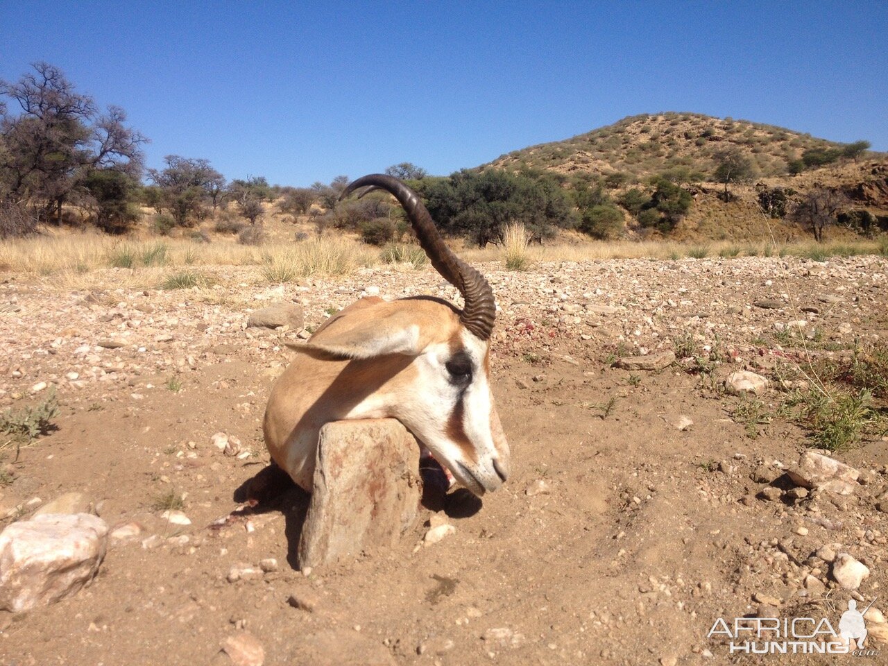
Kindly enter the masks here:
[[[507, 242], [481, 250], [451, 242], [472, 264], [501, 262], [510, 270], [527, 270], [537, 262], [604, 259], [686, 259], [702, 254], [699, 244], [672, 241], [587, 241], [527, 246], [527, 234], [511, 226]], [[705, 246], [707, 258], [794, 256], [822, 261], [858, 254], [885, 254], [888, 243], [876, 241], [731, 242]], [[382, 261], [381, 252], [353, 238], [325, 236], [303, 242], [274, 240], [252, 247], [228, 238], [211, 243], [186, 239], [121, 239], [98, 233], [44, 234], [0, 242], [0, 271], [52, 277], [59, 287], [94, 285], [156, 287], [186, 267], [257, 266], [258, 280], [285, 282], [313, 275], [352, 273]], [[199, 271], [200, 272], [200, 271]]]

